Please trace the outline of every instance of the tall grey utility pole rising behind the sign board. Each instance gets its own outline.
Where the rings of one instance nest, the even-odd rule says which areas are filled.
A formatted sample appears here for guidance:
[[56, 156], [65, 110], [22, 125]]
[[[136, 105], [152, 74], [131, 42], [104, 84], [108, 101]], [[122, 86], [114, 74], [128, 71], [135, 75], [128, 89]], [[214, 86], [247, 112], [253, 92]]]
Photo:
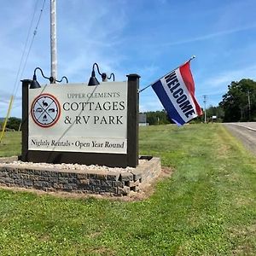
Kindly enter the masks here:
[[56, 0], [50, 0], [50, 75], [57, 79]]

